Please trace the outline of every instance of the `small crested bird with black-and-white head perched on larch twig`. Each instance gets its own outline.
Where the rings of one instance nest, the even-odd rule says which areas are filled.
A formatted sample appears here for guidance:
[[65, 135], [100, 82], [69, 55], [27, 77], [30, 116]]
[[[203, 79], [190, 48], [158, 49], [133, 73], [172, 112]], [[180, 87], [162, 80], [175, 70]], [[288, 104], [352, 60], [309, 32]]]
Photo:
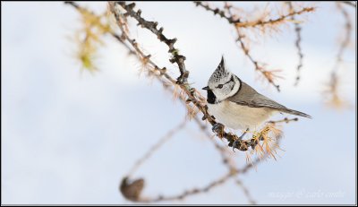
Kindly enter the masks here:
[[255, 91], [226, 68], [224, 56], [221, 57], [217, 69], [211, 74], [208, 85], [202, 90], [207, 91], [209, 113], [221, 123], [213, 125], [213, 131], [223, 125], [234, 130], [241, 129], [244, 133], [239, 139], [277, 112], [311, 118], [310, 115], [286, 108]]

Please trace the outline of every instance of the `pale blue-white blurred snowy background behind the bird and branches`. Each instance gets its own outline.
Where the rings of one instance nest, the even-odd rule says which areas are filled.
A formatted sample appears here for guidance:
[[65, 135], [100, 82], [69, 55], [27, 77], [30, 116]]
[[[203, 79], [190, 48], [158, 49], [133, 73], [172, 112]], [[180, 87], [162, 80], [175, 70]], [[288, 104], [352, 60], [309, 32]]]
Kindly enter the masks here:
[[[250, 11], [268, 3], [233, 4]], [[105, 2], [81, 5], [97, 13], [107, 9]], [[345, 19], [335, 3], [314, 4], [316, 12], [303, 18], [304, 59], [297, 87], [292, 25], [259, 35], [260, 41], [252, 43], [257, 59], [282, 69], [279, 93], [257, 80], [225, 20], [190, 2], [137, 6], [142, 16], [159, 22], [168, 37], [178, 39], [175, 45], [186, 56], [193, 87], [206, 86], [224, 55], [228, 68], [257, 91], [313, 116], [283, 124], [279, 158], [239, 175], [257, 203], [356, 203], [355, 8], [345, 8], [354, 28], [339, 69], [339, 93], [347, 107], [328, 108], [322, 91], [345, 37]], [[141, 64], [109, 36], [98, 50], [98, 72], [81, 71], [76, 44], [69, 39], [81, 28], [80, 15], [71, 6], [2, 2], [1, 17], [2, 204], [131, 203], [118, 190], [121, 179], [135, 160], [183, 121], [183, 105], [156, 80], [141, 75]], [[166, 46], [148, 31], [137, 30], [134, 22], [132, 26], [132, 36], [176, 77]], [[245, 164], [243, 152], [233, 156]], [[191, 122], [135, 176], [145, 177], [143, 194], [150, 196], [206, 185], [225, 172], [217, 151]], [[230, 181], [173, 203], [248, 201]]]

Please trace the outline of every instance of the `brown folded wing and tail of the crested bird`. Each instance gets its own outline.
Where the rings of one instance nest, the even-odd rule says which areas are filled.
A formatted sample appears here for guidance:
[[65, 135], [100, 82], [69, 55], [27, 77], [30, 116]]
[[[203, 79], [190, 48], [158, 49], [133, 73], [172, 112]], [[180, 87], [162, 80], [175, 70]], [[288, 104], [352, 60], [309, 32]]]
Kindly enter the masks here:
[[297, 116], [305, 116], [311, 118], [311, 116], [304, 114], [303, 112], [296, 111], [290, 108], [277, 103], [273, 99], [268, 99], [266, 96], [261, 95], [257, 91], [251, 88], [250, 85], [246, 84], [243, 81], [241, 82], [241, 87], [234, 96], [228, 98], [228, 100], [247, 107], [251, 108], [272, 108], [277, 111], [285, 112], [288, 114], [293, 114]]

